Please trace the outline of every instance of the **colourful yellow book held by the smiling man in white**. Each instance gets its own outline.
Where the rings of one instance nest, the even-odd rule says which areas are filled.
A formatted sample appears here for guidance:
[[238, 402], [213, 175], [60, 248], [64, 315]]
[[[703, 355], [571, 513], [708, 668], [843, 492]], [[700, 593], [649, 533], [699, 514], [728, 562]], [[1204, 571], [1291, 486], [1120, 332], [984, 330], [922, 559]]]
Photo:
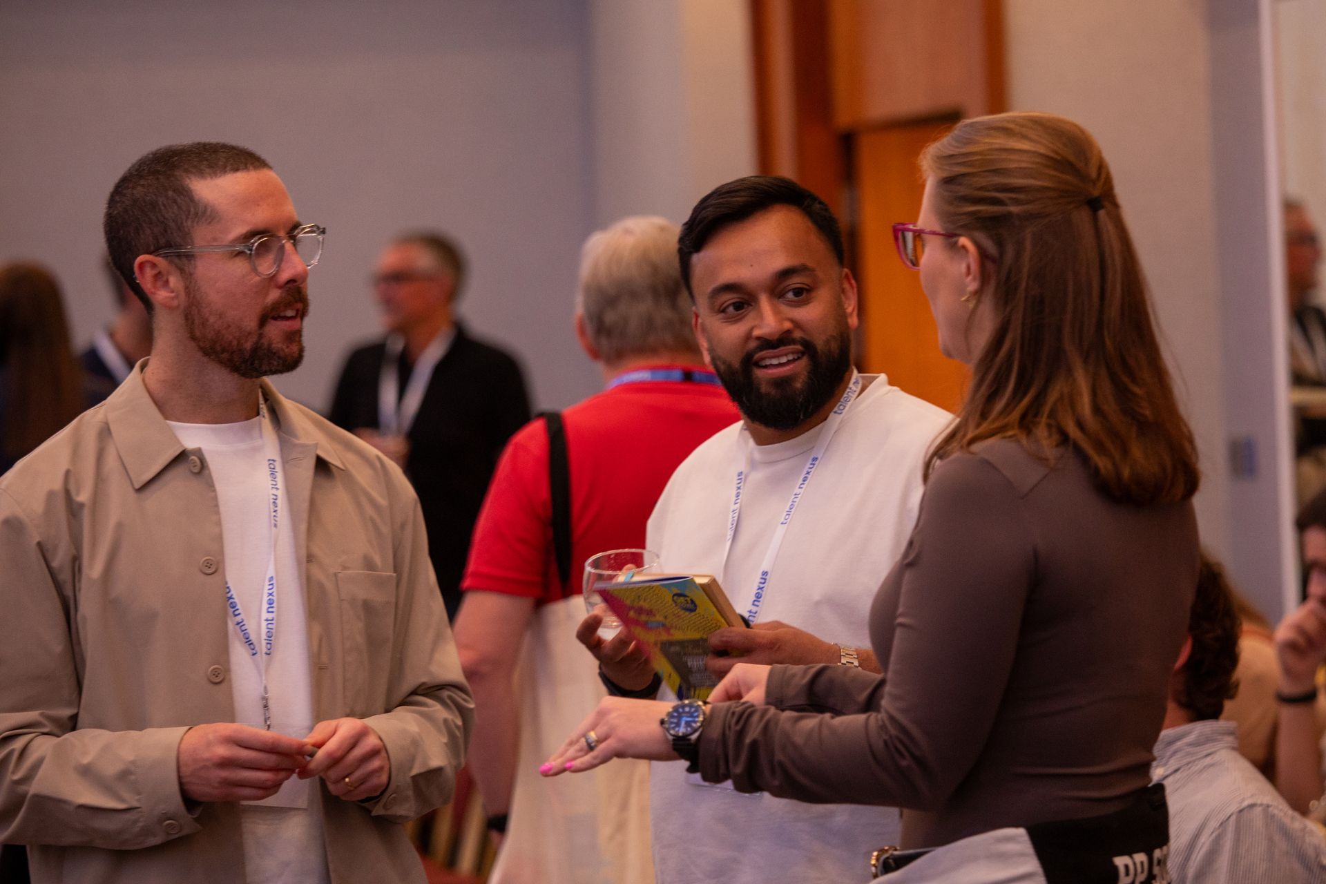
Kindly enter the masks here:
[[745, 620], [716, 578], [707, 574], [640, 574], [599, 587], [622, 628], [646, 648], [654, 669], [682, 700], [705, 700], [717, 680], [704, 668], [709, 634]]

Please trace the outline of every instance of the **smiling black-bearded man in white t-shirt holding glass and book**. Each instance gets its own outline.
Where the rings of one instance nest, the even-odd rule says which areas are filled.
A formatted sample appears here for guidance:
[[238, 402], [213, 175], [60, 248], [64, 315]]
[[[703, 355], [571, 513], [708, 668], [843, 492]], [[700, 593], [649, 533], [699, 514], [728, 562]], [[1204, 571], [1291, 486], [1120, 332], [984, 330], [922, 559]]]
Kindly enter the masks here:
[[[752, 624], [709, 636], [716, 677], [737, 652], [879, 672], [861, 615], [907, 542], [926, 451], [951, 415], [853, 367], [857, 282], [837, 219], [800, 184], [756, 175], [716, 187], [678, 252], [696, 338], [741, 421], [676, 468], [644, 545], [666, 571], [717, 577]], [[660, 680], [643, 652], [625, 634], [603, 641], [598, 624], [591, 614], [577, 635], [609, 692], [654, 697]], [[762, 884], [769, 867], [837, 884], [859, 872], [854, 855], [896, 835], [898, 811], [739, 795], [654, 765], [650, 827], [660, 884]]]

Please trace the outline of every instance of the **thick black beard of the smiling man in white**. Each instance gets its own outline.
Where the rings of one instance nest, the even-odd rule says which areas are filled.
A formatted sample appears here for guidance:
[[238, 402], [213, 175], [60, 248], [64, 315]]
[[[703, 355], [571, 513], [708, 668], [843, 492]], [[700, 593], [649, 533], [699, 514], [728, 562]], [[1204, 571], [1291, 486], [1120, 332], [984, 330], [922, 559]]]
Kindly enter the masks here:
[[[741, 414], [752, 423], [769, 429], [794, 429], [823, 408], [838, 392], [838, 384], [851, 368], [851, 333], [843, 325], [823, 342], [821, 351], [808, 338], [784, 335], [761, 343], [741, 357], [740, 363], [709, 359], [723, 387]], [[780, 378], [761, 386], [754, 376], [754, 360], [761, 353], [780, 347], [801, 347], [808, 367], [802, 378]]]

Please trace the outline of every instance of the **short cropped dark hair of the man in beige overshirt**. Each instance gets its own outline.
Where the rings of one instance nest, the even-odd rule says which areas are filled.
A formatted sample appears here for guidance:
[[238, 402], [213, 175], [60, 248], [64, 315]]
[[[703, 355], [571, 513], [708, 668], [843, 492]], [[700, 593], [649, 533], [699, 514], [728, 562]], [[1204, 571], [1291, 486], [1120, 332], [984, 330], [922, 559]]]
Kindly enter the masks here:
[[192, 142], [158, 147], [119, 176], [102, 219], [106, 252], [149, 313], [152, 302], [134, 278], [134, 261], [158, 249], [194, 245], [194, 228], [215, 219], [212, 207], [194, 195], [190, 182], [260, 168], [272, 167], [247, 147]]

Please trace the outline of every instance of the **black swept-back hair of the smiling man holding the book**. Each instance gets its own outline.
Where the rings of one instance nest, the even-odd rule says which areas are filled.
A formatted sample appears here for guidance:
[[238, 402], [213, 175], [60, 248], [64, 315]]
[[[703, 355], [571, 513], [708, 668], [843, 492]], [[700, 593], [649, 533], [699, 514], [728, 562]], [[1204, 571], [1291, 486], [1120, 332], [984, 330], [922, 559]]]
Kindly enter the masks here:
[[789, 178], [749, 175], [719, 184], [705, 193], [691, 209], [691, 217], [682, 225], [676, 253], [682, 260], [682, 281], [686, 282], [691, 300], [695, 300], [695, 292], [691, 289], [691, 258], [695, 253], [723, 228], [774, 205], [790, 205], [810, 219], [833, 249], [838, 264], [843, 262], [846, 254], [842, 248], [842, 231], [838, 228], [838, 219], [822, 199]]

